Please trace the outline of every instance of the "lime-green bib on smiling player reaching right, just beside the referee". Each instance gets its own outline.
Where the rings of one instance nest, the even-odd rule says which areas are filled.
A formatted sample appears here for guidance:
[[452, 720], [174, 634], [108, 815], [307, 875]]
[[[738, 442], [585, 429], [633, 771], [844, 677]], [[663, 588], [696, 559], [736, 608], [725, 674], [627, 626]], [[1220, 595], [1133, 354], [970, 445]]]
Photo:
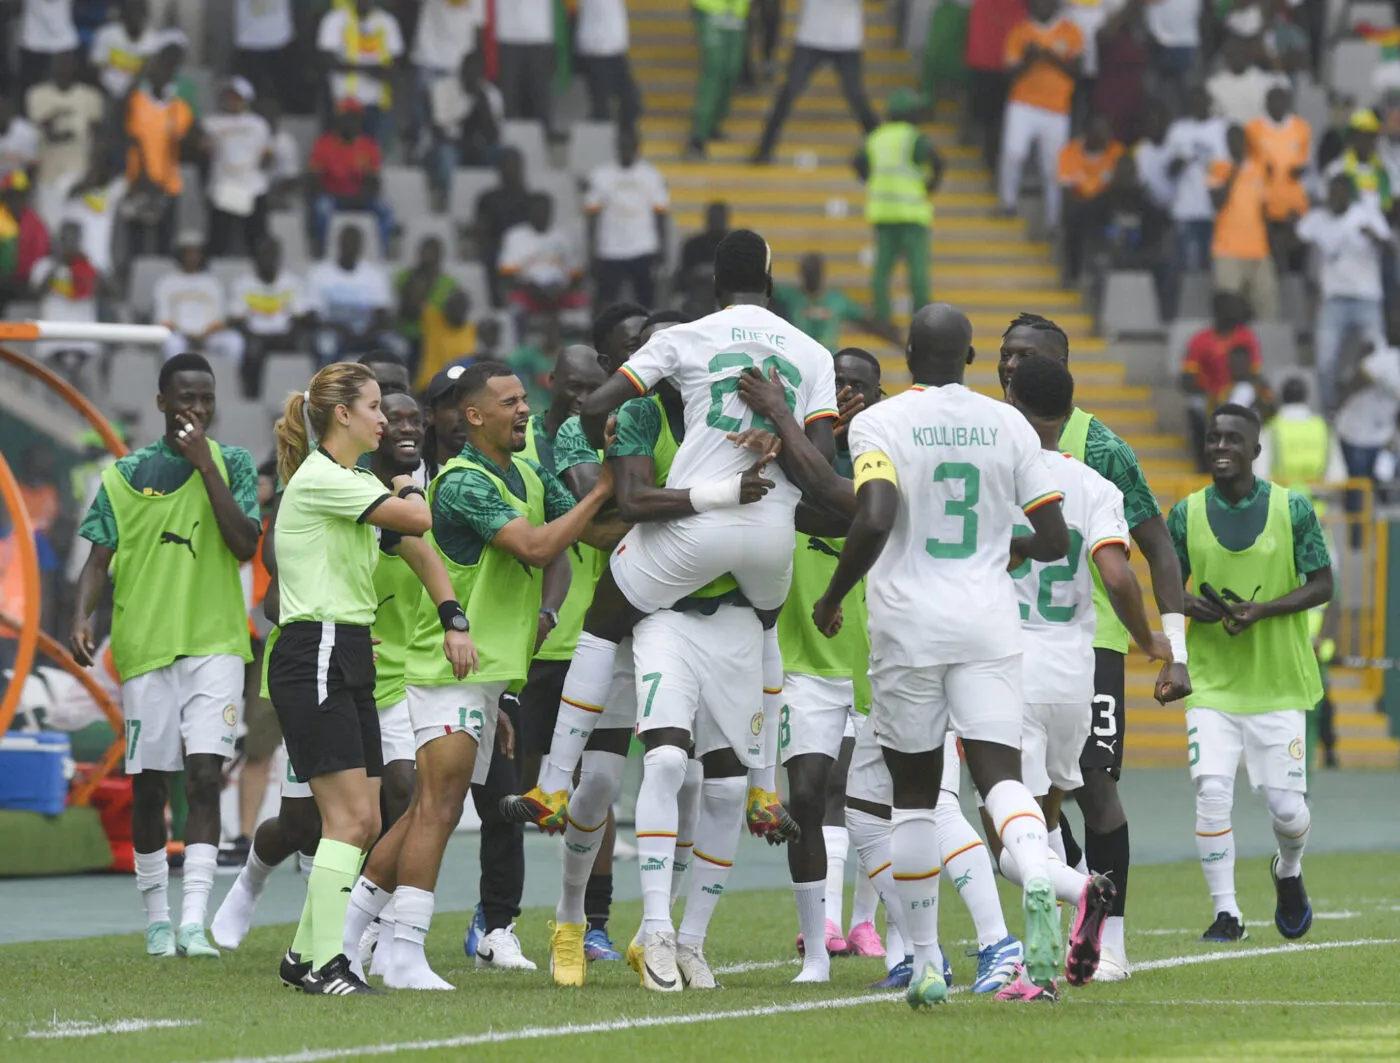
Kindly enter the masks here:
[[[545, 485], [525, 461], [511, 457], [517, 472], [525, 480], [525, 500], [517, 499], [505, 480], [491, 469], [466, 458], [452, 458], [428, 485], [428, 504], [437, 494], [442, 476], [452, 469], [476, 469], [486, 473], [501, 497], [531, 524], [545, 522]], [[437, 549], [437, 539], [428, 532], [428, 542]], [[448, 578], [456, 599], [472, 622], [472, 639], [480, 658], [480, 668], [463, 682], [512, 682], [524, 679], [529, 671], [531, 655], [535, 653], [535, 634], [539, 630], [539, 604], [545, 574], [539, 569], [524, 564], [514, 555], [487, 545], [476, 564], [458, 564], [445, 553]], [[405, 665], [409, 686], [451, 686], [456, 682], [452, 665], [442, 655], [442, 622], [438, 618], [433, 598], [419, 599], [419, 618], [409, 644]]]

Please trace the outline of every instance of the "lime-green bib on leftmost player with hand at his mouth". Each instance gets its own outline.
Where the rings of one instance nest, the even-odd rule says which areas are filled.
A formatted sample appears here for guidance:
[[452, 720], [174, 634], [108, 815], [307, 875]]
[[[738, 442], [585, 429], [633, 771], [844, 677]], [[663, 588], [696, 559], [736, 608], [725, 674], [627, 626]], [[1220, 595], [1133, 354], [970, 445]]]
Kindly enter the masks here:
[[[224, 483], [228, 469], [210, 443]], [[102, 472], [116, 518], [112, 560], [112, 664], [122, 682], [181, 657], [253, 658], [238, 559], [228, 549], [204, 479], [169, 494], [141, 494], [116, 465]]]

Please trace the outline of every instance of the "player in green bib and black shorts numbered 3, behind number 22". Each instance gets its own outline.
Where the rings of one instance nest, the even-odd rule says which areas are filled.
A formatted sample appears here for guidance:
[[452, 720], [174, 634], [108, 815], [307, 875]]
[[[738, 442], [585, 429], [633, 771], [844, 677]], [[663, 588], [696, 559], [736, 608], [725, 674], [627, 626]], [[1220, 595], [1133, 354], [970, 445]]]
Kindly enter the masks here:
[[[1022, 359], [1051, 357], [1070, 364], [1070, 340], [1064, 331], [1039, 314], [1022, 314], [1002, 333], [997, 375], [1002, 391]], [[1075, 408], [1064, 433], [1061, 448], [1082, 461], [1123, 493], [1123, 511], [1128, 532], [1152, 573], [1152, 591], [1162, 613], [1162, 630], [1172, 641], [1175, 662], [1162, 665], [1156, 681], [1156, 699], [1163, 704], [1186, 696], [1191, 681], [1186, 671], [1186, 618], [1179, 591], [1182, 573], [1172, 549], [1166, 522], [1156, 497], [1142, 475], [1133, 448], [1113, 434], [1098, 417]], [[1093, 639], [1093, 704], [1092, 725], [1085, 742], [1079, 769], [1084, 786], [1075, 791], [1075, 803], [1084, 812], [1084, 859], [1102, 871], [1117, 889], [1113, 913], [1103, 931], [1103, 959], [1099, 982], [1117, 982], [1131, 975], [1124, 948], [1123, 916], [1128, 894], [1128, 821], [1119, 800], [1119, 776], [1123, 772], [1123, 742], [1126, 741], [1127, 706], [1124, 700], [1124, 657], [1128, 650], [1127, 629], [1113, 615], [1107, 592], [1099, 573], [1093, 570], [1093, 608], [1098, 627]], [[1071, 866], [1078, 863], [1078, 847], [1068, 833], [1068, 819], [1060, 817], [1064, 833], [1051, 831], [1050, 842], [1057, 852], [1068, 850]], [[1063, 854], [1063, 853], [1061, 853]]]

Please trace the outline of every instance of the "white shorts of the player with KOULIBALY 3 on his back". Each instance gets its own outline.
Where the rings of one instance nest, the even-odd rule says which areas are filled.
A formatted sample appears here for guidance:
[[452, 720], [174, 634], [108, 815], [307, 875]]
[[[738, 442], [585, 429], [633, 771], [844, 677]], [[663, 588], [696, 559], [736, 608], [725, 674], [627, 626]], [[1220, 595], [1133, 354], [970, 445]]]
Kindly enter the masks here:
[[1019, 749], [1021, 704], [1021, 654], [927, 667], [871, 658], [871, 723], [896, 752], [930, 752], [949, 731]]

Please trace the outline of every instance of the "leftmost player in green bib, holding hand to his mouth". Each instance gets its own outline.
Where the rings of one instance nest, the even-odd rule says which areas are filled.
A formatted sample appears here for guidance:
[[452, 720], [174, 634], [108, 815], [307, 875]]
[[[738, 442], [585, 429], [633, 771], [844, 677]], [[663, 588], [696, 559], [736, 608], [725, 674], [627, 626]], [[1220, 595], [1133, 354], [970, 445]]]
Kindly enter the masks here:
[[[234, 752], [252, 660], [238, 566], [258, 549], [258, 473], [241, 447], [204, 434], [214, 374], [200, 354], [162, 367], [165, 434], [118, 459], [78, 534], [92, 543], [78, 577], [71, 647], [95, 651], [91, 615], [112, 578], [112, 662], [123, 686], [136, 887], [150, 955], [217, 957], [204, 934], [218, 859], [218, 794]], [[171, 926], [165, 860], [168, 776], [185, 770], [185, 888]]]

